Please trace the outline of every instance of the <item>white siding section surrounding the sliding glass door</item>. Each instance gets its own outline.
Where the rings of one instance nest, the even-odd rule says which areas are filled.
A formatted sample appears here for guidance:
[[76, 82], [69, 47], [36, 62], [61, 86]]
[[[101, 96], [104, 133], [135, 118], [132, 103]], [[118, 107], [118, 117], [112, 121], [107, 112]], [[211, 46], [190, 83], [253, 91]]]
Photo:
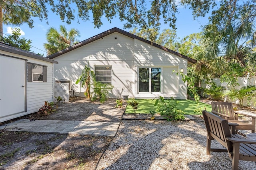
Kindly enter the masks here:
[[[135, 42], [135, 77], [137, 77], [139, 67], [161, 67], [162, 68], [162, 93], [163, 97], [175, 97], [177, 99], [186, 99], [186, 83], [182, 81], [181, 76], [177, 76], [176, 72], [180, 69], [186, 74], [187, 60], [178, 57], [172, 53], [168, 53], [158, 47], [154, 47], [148, 43], [134, 40]], [[154, 98], [155, 94], [140, 95], [138, 93], [138, 78], [135, 81], [135, 97], [137, 98]]]

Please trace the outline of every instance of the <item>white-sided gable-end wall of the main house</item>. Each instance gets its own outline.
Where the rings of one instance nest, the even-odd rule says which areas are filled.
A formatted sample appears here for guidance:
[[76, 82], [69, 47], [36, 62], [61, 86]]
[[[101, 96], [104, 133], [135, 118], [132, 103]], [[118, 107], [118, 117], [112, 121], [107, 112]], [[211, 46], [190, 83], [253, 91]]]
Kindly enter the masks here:
[[[55, 57], [54, 60], [58, 61], [58, 64], [54, 65], [54, 79], [72, 80], [74, 93], [78, 96], [84, 96], [85, 89], [81, 88], [80, 84], [76, 85], [75, 82], [84, 66], [88, 65], [88, 61], [91, 70], [94, 70], [95, 65], [112, 66], [114, 89], [110, 92], [110, 97], [116, 98], [120, 95], [129, 95], [130, 98], [140, 97], [138, 94], [138, 68], [140, 66], [162, 67], [163, 71], [169, 69], [169, 72], [170, 69], [177, 71], [183, 68], [185, 74], [187, 68], [186, 59], [117, 32], [64, 53]], [[166, 74], [166, 76], [169, 76], [166, 77], [166, 81], [177, 78], [175, 73]], [[186, 99], [186, 83], [181, 80], [181, 77], [173, 81], [176, 86], [166, 86], [168, 91], [166, 97]], [[170, 91], [172, 94], [169, 93]], [[162, 93], [160, 95], [164, 96]], [[145, 94], [142, 95], [142, 97], [145, 96]]]

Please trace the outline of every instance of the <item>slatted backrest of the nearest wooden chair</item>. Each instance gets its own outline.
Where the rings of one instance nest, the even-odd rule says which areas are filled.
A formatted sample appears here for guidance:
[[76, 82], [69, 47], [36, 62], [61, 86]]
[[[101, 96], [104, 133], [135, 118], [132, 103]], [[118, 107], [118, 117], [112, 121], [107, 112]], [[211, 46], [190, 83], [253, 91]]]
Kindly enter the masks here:
[[206, 125], [207, 137], [209, 140], [215, 139], [222, 146], [228, 149], [228, 152], [232, 150], [232, 143], [226, 140], [226, 137], [231, 137], [228, 121], [221, 117], [207, 111], [203, 111], [204, 123]]

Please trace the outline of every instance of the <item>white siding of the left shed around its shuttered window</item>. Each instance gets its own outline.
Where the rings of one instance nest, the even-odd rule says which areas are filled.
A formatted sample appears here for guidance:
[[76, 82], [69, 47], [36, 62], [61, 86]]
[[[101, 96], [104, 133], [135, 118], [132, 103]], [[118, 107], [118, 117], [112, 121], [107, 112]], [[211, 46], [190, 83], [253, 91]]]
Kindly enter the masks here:
[[[34, 59], [31, 57], [26, 57], [23, 55], [8, 53], [6, 51], [1, 51], [1, 53], [10, 55], [13, 57], [26, 59], [27, 62], [29, 63], [35, 63], [35, 64], [47, 66], [47, 82], [28, 82], [28, 78], [27, 78], [28, 74], [26, 75], [27, 111], [24, 113], [19, 113], [17, 115], [14, 115], [14, 117], [20, 117], [23, 115], [28, 115], [30, 113], [37, 112], [38, 109], [40, 109], [40, 107], [44, 104], [44, 101], [49, 101], [49, 102], [53, 101], [53, 63], [42, 61], [39, 59]], [[26, 67], [28, 67], [28, 65], [26, 65]], [[28, 68], [27, 68], [27, 71], [28, 71]], [[14, 117], [10, 117], [10, 119], [13, 119]]]

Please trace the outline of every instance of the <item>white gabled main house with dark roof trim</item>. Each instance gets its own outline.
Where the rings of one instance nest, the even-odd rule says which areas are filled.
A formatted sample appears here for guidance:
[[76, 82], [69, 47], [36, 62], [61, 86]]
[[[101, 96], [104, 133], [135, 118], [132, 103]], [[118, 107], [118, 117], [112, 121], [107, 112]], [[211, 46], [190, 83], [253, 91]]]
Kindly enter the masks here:
[[196, 60], [151, 43], [119, 28], [112, 28], [48, 56], [58, 61], [54, 79], [72, 81], [75, 95], [84, 88], [75, 84], [85, 65], [96, 80], [114, 86], [110, 97], [150, 99], [158, 96], [186, 99], [186, 83], [173, 71], [184, 71]]

